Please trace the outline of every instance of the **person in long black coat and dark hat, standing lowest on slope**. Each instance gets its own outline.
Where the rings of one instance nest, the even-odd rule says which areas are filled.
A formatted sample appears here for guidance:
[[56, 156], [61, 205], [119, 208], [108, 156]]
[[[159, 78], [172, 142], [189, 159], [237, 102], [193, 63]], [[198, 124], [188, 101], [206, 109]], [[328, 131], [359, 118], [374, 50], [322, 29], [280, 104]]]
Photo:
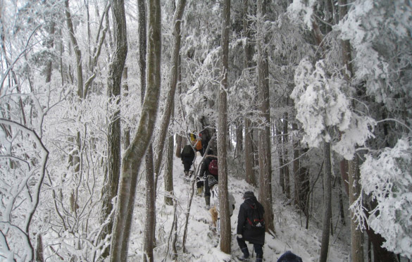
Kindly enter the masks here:
[[[254, 217], [254, 211], [258, 211], [263, 218], [265, 209], [258, 202], [254, 192], [246, 191], [243, 194], [244, 202], [240, 205], [239, 216], [237, 216], [237, 244], [239, 244], [240, 250], [243, 256], [239, 258], [240, 261], [249, 261], [249, 249], [247, 249], [246, 241], [254, 244], [256, 252], [256, 262], [263, 261], [263, 244], [265, 244], [265, 226], [256, 227], [251, 225], [252, 217]], [[257, 209], [256, 209], [257, 208]]]

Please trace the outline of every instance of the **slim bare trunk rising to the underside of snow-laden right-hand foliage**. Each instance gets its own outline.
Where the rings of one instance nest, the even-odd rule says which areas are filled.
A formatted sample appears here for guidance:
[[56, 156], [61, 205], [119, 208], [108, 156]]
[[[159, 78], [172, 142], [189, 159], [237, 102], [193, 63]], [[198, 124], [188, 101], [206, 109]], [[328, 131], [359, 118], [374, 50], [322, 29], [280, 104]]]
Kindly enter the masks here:
[[329, 142], [323, 142], [323, 160], [325, 161], [325, 169], [323, 170], [323, 186], [325, 188], [325, 194], [323, 196], [323, 231], [319, 262], [327, 261], [330, 237], [330, 218], [332, 218], [332, 163], [330, 161]]

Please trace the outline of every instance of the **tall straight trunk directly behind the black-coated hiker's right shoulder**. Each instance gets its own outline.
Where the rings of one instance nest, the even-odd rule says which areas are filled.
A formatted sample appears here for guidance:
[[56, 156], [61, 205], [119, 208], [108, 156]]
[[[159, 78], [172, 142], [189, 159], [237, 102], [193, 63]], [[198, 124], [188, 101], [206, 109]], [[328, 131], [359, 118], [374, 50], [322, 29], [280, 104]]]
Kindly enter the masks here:
[[268, 60], [264, 48], [263, 18], [266, 13], [266, 1], [258, 0], [258, 25], [256, 43], [258, 50], [258, 105], [263, 123], [259, 130], [259, 201], [265, 208], [266, 230], [275, 232], [272, 208], [272, 161], [270, 154], [270, 103]]

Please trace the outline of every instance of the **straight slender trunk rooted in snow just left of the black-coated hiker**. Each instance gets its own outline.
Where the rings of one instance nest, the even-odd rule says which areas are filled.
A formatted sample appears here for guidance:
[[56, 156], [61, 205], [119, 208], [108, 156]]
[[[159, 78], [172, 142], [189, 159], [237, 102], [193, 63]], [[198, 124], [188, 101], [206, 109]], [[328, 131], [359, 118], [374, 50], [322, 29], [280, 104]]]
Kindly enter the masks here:
[[220, 250], [230, 254], [232, 239], [227, 190], [227, 76], [229, 71], [229, 30], [230, 0], [223, 1], [222, 13], [222, 80], [219, 89], [218, 116], [218, 168], [219, 168], [219, 206], [220, 206]]

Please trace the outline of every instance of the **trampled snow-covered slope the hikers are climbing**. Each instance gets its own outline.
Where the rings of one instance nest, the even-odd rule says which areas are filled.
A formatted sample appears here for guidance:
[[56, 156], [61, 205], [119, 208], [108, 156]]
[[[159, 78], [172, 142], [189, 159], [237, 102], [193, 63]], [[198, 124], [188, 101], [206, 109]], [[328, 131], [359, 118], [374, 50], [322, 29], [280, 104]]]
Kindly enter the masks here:
[[[201, 158], [197, 157], [196, 160]], [[199, 161], [196, 161], [199, 162]], [[185, 248], [187, 254], [182, 253], [182, 235], [185, 228], [185, 212], [187, 211], [187, 203], [189, 202], [190, 191], [192, 187], [191, 182], [186, 182], [183, 166], [180, 158], [174, 157], [173, 161], [173, 183], [175, 189], [175, 197], [177, 199], [177, 253], [179, 255], [177, 261], [194, 261], [194, 262], [215, 262], [215, 261], [237, 261], [237, 256], [242, 256], [236, 240], [237, 214], [239, 213], [239, 206], [243, 203], [243, 193], [247, 190], [255, 192], [257, 196], [257, 189], [247, 184], [244, 180], [238, 180], [235, 177], [229, 176], [228, 189], [235, 197], [235, 211], [230, 218], [231, 232], [232, 232], [232, 254], [224, 254], [219, 249], [218, 235], [216, 230], [212, 229], [211, 214], [205, 208], [204, 195], [196, 196], [196, 183], [194, 184], [194, 196], [192, 199], [192, 206], [189, 213], [189, 224], [187, 229], [187, 240]], [[142, 185], [142, 182], [140, 183]], [[143, 183], [144, 184], [144, 183]], [[166, 206], [164, 204], [164, 185], [163, 175], [159, 177], [158, 197], [156, 199], [156, 239], [158, 246], [154, 249], [154, 261], [163, 261], [165, 259], [168, 237], [170, 235], [170, 228], [173, 223], [173, 206]], [[139, 189], [140, 190], [140, 189]], [[139, 192], [143, 194], [144, 191]], [[276, 194], [274, 194], [276, 195]], [[273, 237], [266, 233], [265, 245], [263, 246], [263, 261], [277, 261], [285, 251], [291, 250], [295, 254], [301, 256], [304, 262], [318, 261], [318, 253], [320, 251], [320, 239], [322, 235], [321, 228], [313, 226], [306, 230], [304, 225], [306, 218], [299, 217], [299, 213], [294, 211], [292, 206], [282, 205], [282, 199], [273, 199], [273, 211], [275, 213], [275, 230], [276, 236]], [[211, 200], [213, 205], [213, 200]], [[136, 259], [142, 256], [143, 247], [143, 232], [144, 229], [144, 204], [139, 204], [135, 208], [136, 227], [132, 232], [132, 239], [130, 243], [130, 258]], [[159, 236], [159, 237], [158, 237]], [[246, 242], [247, 243], [247, 242]], [[249, 253], [252, 255], [253, 245], [248, 244]], [[168, 257], [164, 261], [173, 261], [170, 258], [172, 247], [170, 244]], [[328, 261], [340, 262], [349, 261], [347, 244], [335, 241], [335, 236], [330, 237], [330, 253]], [[256, 254], [253, 252], [251, 261], [255, 261]]]

